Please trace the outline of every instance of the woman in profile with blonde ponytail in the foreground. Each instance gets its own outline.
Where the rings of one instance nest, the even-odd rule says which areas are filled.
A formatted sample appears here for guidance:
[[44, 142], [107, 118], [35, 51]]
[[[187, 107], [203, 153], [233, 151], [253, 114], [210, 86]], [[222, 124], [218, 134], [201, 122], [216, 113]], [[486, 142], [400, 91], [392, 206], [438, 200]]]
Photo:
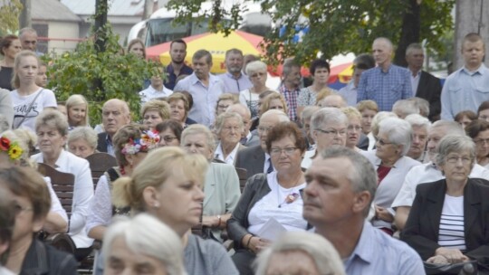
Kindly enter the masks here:
[[190, 233], [202, 215], [207, 166], [200, 154], [160, 147], [148, 154], [131, 177], [114, 183], [113, 202], [129, 206], [133, 213], [150, 213], [177, 232], [185, 247], [188, 274], [238, 274], [221, 244]]

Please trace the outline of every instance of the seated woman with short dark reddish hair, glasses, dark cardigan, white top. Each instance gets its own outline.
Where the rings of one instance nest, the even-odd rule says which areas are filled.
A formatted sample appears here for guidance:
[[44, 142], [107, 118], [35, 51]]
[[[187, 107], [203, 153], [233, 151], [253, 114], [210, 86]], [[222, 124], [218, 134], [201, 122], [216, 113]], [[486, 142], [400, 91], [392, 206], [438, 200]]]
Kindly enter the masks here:
[[229, 238], [235, 241], [233, 261], [240, 274], [254, 274], [251, 262], [273, 241], [273, 233], [266, 230], [269, 224], [280, 224], [283, 231], [308, 228], [302, 218], [305, 177], [301, 161], [306, 144], [301, 130], [293, 122], [277, 124], [267, 133], [266, 148], [276, 171], [248, 179], [227, 222]]

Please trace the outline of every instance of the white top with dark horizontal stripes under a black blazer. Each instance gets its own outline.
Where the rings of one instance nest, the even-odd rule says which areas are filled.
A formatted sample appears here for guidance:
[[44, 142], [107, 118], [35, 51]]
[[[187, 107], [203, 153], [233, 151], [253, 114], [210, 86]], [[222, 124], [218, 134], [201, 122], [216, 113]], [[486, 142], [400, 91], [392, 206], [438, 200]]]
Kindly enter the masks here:
[[465, 251], [464, 196], [445, 194], [438, 244], [442, 247]]

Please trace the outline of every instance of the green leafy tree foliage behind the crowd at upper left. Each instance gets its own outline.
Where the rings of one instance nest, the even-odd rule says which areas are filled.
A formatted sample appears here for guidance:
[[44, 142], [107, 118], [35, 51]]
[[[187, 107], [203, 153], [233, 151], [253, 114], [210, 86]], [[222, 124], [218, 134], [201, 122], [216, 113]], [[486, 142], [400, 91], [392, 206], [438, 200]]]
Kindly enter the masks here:
[[[72, 94], [82, 94], [90, 103], [91, 124], [100, 123], [103, 102], [110, 99], [125, 100], [133, 119], [139, 119], [139, 90], [154, 73], [158, 64], [147, 62], [134, 54], [121, 54], [119, 37], [112, 33], [110, 24], [103, 27], [106, 37], [105, 52], [98, 52], [94, 42], [79, 43], [74, 52], [43, 56], [50, 63], [49, 88], [58, 100], [67, 100]], [[101, 80], [101, 87], [94, 80]]]

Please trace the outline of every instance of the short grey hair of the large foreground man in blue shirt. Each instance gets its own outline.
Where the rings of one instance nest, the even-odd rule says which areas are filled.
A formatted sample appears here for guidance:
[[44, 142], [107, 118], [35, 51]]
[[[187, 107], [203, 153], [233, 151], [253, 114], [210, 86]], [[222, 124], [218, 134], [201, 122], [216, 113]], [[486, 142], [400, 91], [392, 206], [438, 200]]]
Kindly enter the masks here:
[[[328, 158], [347, 158], [350, 160], [353, 170], [343, 171], [350, 180], [353, 192], [359, 193], [367, 191], [370, 194], [370, 204], [372, 203], [377, 191], [377, 172], [367, 157], [361, 155], [347, 147], [329, 147], [321, 152], [323, 159]], [[369, 215], [370, 204], [363, 210], [363, 215]]]

